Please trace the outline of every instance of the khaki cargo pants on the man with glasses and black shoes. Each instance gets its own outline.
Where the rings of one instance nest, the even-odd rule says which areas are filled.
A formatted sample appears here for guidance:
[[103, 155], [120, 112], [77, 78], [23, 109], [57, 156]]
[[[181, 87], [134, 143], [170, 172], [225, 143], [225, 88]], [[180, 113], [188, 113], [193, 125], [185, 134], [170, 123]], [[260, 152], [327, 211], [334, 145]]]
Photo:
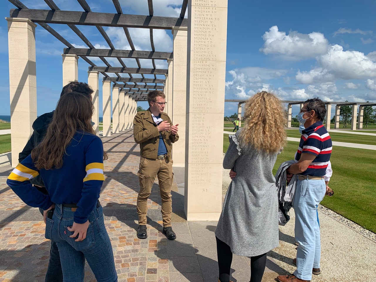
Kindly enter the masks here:
[[141, 157], [137, 173], [140, 184], [140, 191], [137, 197], [138, 224], [146, 225], [147, 199], [152, 191], [155, 177], [158, 176], [159, 193], [161, 194], [162, 200], [161, 212], [163, 227], [171, 226], [171, 186], [173, 183], [172, 164], [172, 160], [167, 163], [166, 159], [159, 160]]

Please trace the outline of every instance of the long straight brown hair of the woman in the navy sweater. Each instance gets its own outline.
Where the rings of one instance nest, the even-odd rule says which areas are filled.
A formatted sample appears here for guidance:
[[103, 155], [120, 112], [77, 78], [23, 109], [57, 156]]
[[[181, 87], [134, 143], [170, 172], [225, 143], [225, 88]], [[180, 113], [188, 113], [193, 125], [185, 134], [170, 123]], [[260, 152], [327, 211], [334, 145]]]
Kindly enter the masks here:
[[[77, 130], [82, 130], [83, 134], [96, 133], [90, 121], [93, 113], [94, 106], [87, 95], [73, 91], [61, 96], [46, 135], [31, 152], [35, 167], [61, 168], [65, 149]], [[107, 158], [103, 152], [103, 159]]]

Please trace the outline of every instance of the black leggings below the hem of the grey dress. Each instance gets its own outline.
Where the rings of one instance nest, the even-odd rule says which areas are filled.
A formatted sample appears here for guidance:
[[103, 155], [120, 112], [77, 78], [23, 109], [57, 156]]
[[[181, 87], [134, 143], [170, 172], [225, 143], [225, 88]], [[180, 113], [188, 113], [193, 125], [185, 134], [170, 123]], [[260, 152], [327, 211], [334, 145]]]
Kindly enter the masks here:
[[[232, 252], [230, 246], [217, 240], [217, 256], [218, 256], [218, 268], [219, 268], [219, 280], [220, 282], [230, 281], [230, 269], [232, 262]], [[266, 253], [259, 256], [252, 256], [251, 259], [251, 277], [250, 282], [261, 282], [262, 276], [266, 266]]]

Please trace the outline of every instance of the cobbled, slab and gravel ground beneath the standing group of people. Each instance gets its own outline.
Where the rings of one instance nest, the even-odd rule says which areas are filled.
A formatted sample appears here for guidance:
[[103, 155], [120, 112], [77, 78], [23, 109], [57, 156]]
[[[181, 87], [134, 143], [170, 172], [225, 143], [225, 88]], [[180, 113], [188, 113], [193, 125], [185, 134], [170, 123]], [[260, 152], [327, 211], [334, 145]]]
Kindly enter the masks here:
[[[139, 146], [132, 130], [102, 137], [109, 159], [100, 201], [114, 249], [119, 282], [217, 282], [218, 266], [214, 230], [216, 221], [185, 220], [183, 211], [184, 168], [174, 168], [171, 220], [177, 239], [162, 234], [161, 199], [155, 183], [148, 200], [148, 235], [136, 237], [136, 198], [139, 190]], [[0, 167], [0, 282], [44, 281], [49, 240], [36, 208], [26, 206], [6, 185], [10, 165]], [[228, 171], [223, 177], [228, 179]], [[226, 190], [226, 184], [224, 191]], [[321, 215], [323, 254], [321, 271], [312, 281], [372, 281], [376, 265], [376, 243]], [[268, 253], [263, 282], [274, 282], [278, 274], [294, 270], [294, 219], [280, 228], [280, 246]], [[249, 281], [249, 259], [233, 257], [233, 281]], [[351, 271], [349, 271], [351, 269]], [[85, 282], [96, 281], [86, 265]]]

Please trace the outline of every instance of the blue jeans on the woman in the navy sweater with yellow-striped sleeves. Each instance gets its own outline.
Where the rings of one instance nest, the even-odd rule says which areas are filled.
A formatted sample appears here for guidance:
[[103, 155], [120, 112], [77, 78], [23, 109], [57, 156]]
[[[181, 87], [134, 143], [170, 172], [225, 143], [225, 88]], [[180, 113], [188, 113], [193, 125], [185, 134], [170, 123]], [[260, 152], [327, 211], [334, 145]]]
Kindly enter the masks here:
[[117, 282], [114, 254], [103, 220], [103, 208], [95, 207], [89, 215], [86, 238], [76, 242], [67, 229], [73, 225], [71, 208], [55, 205], [52, 219], [47, 218], [45, 237], [59, 248], [64, 282], [83, 282], [85, 258], [98, 282]]

